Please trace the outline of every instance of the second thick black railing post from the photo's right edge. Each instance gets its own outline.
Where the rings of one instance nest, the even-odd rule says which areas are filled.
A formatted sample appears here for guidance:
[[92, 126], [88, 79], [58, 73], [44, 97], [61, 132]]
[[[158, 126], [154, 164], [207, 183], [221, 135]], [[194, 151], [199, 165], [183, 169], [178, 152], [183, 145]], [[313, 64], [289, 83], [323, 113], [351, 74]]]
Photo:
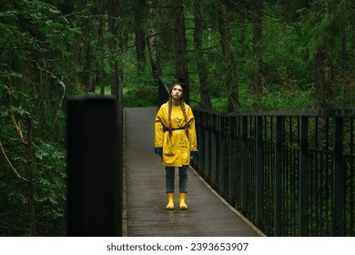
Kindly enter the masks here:
[[309, 177], [309, 117], [299, 123], [299, 236], [308, 233], [308, 177]]

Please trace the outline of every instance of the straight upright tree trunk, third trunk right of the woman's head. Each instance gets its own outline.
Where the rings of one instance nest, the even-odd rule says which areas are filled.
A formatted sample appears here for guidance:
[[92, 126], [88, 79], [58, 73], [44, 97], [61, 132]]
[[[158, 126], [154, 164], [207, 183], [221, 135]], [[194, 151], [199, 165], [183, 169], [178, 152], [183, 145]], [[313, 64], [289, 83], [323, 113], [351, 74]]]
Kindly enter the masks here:
[[253, 91], [257, 101], [255, 108], [261, 109], [262, 103], [262, 56], [261, 56], [261, 36], [262, 36], [262, 0], [253, 2], [253, 44], [255, 56], [255, 71], [253, 77]]

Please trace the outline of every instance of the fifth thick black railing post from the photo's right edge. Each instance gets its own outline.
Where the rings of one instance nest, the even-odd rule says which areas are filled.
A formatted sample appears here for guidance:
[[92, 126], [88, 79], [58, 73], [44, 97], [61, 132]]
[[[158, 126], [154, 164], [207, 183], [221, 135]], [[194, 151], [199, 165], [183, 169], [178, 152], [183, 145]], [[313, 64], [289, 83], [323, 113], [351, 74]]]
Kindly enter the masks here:
[[248, 210], [248, 117], [242, 117], [240, 148], [240, 203], [241, 213], [247, 215]]

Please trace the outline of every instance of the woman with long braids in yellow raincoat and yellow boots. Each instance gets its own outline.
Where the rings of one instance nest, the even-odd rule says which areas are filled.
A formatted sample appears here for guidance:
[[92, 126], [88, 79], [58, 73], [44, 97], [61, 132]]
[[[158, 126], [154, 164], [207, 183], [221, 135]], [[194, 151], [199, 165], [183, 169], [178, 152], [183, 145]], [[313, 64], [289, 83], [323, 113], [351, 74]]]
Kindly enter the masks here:
[[167, 103], [156, 116], [155, 150], [166, 168], [167, 209], [174, 209], [175, 168], [179, 177], [179, 209], [188, 209], [188, 165], [190, 158], [198, 153], [195, 117], [184, 100], [183, 87], [174, 84]]

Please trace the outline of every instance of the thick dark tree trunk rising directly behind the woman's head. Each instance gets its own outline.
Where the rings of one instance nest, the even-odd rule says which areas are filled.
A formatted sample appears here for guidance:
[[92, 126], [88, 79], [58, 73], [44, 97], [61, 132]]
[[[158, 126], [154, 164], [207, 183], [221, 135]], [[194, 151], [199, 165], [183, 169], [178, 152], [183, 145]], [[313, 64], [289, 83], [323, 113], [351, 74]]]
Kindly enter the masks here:
[[185, 32], [184, 1], [175, 0], [175, 52], [177, 82], [184, 87], [184, 100], [189, 103], [189, 83], [187, 65], [187, 40]]

